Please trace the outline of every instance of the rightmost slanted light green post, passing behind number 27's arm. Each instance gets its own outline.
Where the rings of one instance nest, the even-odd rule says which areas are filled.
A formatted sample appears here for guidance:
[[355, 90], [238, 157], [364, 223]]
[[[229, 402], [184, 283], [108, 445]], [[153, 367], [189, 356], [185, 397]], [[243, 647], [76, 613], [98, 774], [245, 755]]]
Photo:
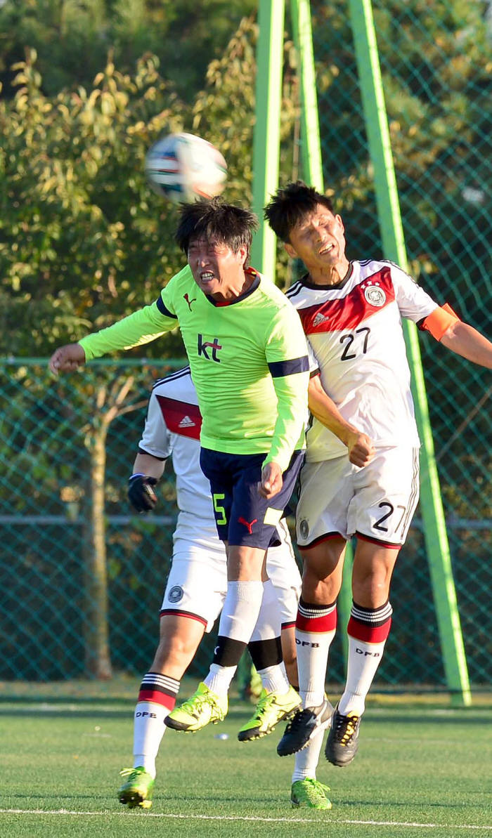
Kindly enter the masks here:
[[[370, 0], [350, 0], [350, 15], [370, 157], [375, 172], [375, 196], [381, 239], [386, 258], [406, 267], [407, 253]], [[412, 368], [412, 391], [417, 425], [422, 441], [420, 505], [444, 671], [452, 703], [468, 706], [471, 704], [469, 676], [432, 442], [417, 328], [414, 323], [407, 321], [404, 323], [404, 328]]]

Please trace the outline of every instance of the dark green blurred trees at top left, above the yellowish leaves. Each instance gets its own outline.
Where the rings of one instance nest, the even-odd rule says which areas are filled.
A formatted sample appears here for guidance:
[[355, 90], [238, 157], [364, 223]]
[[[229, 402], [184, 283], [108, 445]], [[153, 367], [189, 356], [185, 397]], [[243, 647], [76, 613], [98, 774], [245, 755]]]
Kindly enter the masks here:
[[10, 67], [36, 49], [43, 91], [88, 87], [108, 53], [133, 74], [145, 53], [158, 56], [163, 76], [191, 101], [210, 59], [220, 56], [253, 0], [5, 0], [0, 7], [0, 80], [7, 95]]

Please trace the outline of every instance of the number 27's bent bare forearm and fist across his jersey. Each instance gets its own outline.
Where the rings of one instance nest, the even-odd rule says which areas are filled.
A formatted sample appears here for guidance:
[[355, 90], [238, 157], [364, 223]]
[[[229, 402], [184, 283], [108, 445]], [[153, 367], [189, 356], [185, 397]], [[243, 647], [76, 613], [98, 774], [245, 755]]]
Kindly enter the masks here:
[[333, 399], [324, 391], [319, 375], [313, 375], [309, 380], [308, 406], [313, 416], [346, 445], [350, 463], [360, 468], [370, 463], [375, 455], [372, 440], [344, 419]]

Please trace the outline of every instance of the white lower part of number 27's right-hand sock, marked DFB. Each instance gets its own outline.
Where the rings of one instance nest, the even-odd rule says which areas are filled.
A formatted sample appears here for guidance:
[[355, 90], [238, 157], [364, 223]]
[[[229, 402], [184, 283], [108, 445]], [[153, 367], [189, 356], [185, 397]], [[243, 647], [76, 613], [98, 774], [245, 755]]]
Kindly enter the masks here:
[[347, 683], [344, 694], [339, 701], [339, 712], [342, 716], [355, 713], [362, 716], [365, 710], [365, 696], [370, 691], [370, 685], [381, 663], [386, 640], [381, 643], [365, 643], [349, 636], [349, 663], [347, 666]]

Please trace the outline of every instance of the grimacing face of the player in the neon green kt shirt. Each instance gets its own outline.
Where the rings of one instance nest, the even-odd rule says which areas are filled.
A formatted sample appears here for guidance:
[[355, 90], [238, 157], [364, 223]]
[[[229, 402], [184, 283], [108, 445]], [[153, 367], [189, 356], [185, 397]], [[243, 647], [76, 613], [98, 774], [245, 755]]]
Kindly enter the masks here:
[[244, 282], [246, 247], [233, 251], [224, 242], [205, 238], [192, 239], [188, 246], [188, 264], [194, 281], [205, 294], [225, 295], [237, 281]]

